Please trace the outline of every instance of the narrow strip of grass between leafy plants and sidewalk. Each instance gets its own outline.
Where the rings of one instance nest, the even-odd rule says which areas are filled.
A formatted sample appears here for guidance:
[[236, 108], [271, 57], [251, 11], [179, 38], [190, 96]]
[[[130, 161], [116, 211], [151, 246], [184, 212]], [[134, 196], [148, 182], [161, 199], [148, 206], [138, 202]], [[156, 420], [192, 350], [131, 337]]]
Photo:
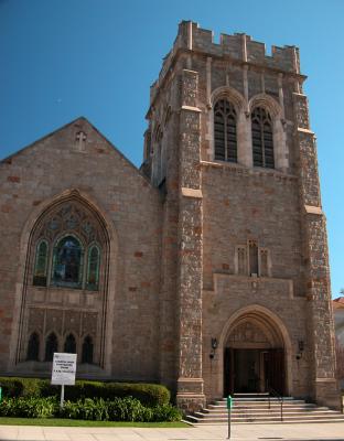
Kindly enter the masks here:
[[88, 421], [63, 418], [7, 418], [0, 417], [0, 426], [61, 426], [61, 427], [147, 427], [186, 428], [185, 422], [130, 422], [130, 421]]

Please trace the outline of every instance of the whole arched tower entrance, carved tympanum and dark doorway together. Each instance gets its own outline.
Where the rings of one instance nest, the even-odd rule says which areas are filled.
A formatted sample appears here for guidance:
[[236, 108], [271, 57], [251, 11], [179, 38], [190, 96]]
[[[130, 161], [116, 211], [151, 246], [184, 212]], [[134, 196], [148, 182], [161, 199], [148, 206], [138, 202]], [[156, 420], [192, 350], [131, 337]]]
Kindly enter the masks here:
[[286, 345], [277, 324], [259, 311], [237, 316], [224, 342], [224, 394], [286, 392]]

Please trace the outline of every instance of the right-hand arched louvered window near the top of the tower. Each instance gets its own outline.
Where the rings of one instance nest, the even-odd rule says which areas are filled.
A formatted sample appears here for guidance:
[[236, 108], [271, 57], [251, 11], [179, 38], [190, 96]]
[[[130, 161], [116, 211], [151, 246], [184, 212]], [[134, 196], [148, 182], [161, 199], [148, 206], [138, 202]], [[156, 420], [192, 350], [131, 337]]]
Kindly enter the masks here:
[[256, 107], [251, 114], [254, 166], [275, 168], [272, 121], [269, 112]]

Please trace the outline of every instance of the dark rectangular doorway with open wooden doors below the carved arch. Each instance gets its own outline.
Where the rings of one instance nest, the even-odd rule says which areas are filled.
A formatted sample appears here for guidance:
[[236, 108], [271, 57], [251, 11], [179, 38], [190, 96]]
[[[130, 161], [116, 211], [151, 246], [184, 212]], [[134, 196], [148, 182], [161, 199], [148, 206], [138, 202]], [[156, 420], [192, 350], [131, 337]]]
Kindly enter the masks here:
[[224, 353], [224, 396], [235, 392], [265, 392], [286, 389], [284, 349], [241, 349], [226, 347]]

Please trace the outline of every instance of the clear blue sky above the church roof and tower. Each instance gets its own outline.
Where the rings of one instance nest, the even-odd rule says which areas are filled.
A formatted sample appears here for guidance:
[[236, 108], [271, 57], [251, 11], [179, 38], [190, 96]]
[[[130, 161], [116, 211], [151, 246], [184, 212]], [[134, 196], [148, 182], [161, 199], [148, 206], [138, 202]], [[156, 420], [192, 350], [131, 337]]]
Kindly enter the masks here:
[[0, 0], [0, 159], [87, 117], [135, 164], [149, 86], [181, 20], [294, 44], [309, 79], [332, 293], [344, 287], [343, 0]]

